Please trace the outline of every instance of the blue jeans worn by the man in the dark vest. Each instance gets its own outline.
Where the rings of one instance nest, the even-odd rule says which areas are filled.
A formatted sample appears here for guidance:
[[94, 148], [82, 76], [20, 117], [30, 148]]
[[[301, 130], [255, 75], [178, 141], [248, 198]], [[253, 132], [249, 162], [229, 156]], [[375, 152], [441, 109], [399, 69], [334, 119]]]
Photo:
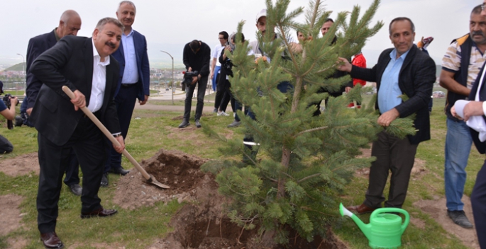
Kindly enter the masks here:
[[450, 211], [463, 210], [465, 185], [465, 166], [468, 165], [469, 153], [473, 139], [468, 125], [464, 121], [457, 122], [447, 118], [447, 135], [444, 165], [444, 180], [446, 187], [446, 207]]

